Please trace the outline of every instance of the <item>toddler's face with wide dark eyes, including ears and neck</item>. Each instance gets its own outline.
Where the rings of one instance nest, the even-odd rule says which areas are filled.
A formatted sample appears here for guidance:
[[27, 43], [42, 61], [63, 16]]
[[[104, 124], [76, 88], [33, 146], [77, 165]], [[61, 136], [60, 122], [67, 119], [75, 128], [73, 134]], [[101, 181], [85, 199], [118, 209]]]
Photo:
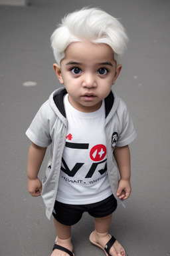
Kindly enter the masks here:
[[65, 85], [72, 107], [87, 113], [100, 108], [121, 69], [122, 65], [116, 66], [110, 46], [90, 41], [71, 43], [60, 67], [54, 64], [56, 76]]

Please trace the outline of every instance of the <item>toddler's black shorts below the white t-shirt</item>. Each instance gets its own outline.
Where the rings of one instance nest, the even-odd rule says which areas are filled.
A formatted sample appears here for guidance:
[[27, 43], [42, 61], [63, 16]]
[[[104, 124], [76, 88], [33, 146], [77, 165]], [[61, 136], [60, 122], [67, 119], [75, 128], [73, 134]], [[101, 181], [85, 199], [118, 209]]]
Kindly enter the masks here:
[[80, 221], [84, 212], [88, 212], [92, 217], [101, 218], [112, 214], [116, 208], [116, 198], [114, 195], [110, 195], [98, 203], [88, 205], [68, 205], [56, 201], [52, 215], [56, 221], [64, 225], [74, 225]]

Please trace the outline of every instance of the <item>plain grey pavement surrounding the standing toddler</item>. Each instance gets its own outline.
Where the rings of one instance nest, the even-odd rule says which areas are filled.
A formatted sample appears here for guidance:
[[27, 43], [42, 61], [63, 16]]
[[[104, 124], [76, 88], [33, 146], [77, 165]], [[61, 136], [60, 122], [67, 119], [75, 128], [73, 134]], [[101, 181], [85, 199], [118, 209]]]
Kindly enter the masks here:
[[[60, 86], [52, 70], [49, 41], [56, 23], [65, 13], [91, 5], [121, 18], [130, 39], [115, 91], [126, 101], [137, 130], [130, 146], [133, 190], [126, 209], [114, 213], [110, 233], [128, 256], [169, 256], [169, 0], [31, 3], [0, 6], [0, 255], [51, 253], [53, 221], [46, 219], [42, 199], [27, 192], [25, 131], [41, 104]], [[26, 81], [37, 85], [25, 87]], [[75, 255], [104, 255], [88, 241], [92, 230], [93, 219], [84, 214], [72, 228]]]

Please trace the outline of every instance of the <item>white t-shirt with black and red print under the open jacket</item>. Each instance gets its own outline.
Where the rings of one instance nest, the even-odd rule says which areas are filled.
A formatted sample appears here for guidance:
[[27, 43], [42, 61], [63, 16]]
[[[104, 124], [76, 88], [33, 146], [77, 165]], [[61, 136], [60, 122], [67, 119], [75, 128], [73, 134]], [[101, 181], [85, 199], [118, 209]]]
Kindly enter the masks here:
[[72, 205], [102, 201], [112, 195], [107, 171], [105, 106], [82, 113], [64, 96], [68, 119], [66, 146], [56, 200]]

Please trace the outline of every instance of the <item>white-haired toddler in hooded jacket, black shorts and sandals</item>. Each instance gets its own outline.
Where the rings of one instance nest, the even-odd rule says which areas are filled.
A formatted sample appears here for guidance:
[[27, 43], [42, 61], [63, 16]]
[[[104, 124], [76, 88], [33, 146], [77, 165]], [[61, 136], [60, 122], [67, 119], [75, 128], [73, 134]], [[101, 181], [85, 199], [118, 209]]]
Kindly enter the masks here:
[[131, 193], [128, 145], [136, 133], [126, 104], [112, 91], [127, 40], [120, 22], [97, 8], [66, 15], [51, 36], [54, 72], [64, 86], [41, 106], [26, 134], [29, 193], [42, 195], [46, 216], [54, 217], [52, 256], [74, 255], [71, 227], [84, 212], [94, 217], [90, 242], [106, 255], [126, 256], [108, 230], [117, 203]]

